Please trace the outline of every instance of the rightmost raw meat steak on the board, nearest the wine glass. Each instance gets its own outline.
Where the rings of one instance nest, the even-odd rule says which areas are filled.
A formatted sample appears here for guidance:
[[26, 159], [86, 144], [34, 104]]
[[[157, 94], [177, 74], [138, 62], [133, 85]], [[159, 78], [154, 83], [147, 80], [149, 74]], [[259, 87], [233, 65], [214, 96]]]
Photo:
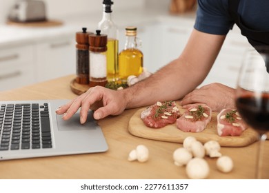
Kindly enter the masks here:
[[223, 109], [217, 115], [217, 132], [219, 136], [240, 136], [246, 130], [237, 110]]

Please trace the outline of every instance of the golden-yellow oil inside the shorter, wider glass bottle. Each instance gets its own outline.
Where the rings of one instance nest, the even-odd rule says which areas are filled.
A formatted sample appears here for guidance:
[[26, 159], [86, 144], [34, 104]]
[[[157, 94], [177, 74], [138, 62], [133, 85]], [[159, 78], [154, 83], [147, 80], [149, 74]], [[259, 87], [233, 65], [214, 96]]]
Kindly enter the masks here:
[[127, 81], [130, 75], [139, 76], [143, 71], [143, 53], [136, 48], [119, 53], [119, 79]]

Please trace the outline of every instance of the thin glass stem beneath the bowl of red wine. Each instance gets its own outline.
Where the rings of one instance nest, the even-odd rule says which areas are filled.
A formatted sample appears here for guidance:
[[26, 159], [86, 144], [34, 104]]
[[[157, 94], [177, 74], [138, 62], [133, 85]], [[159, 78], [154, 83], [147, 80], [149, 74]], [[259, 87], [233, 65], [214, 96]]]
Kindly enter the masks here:
[[267, 135], [266, 134], [259, 134], [259, 141], [258, 141], [258, 153], [257, 153], [257, 168], [256, 168], [256, 179], [261, 179], [261, 167], [263, 165], [263, 148], [264, 148], [264, 141], [266, 141]]

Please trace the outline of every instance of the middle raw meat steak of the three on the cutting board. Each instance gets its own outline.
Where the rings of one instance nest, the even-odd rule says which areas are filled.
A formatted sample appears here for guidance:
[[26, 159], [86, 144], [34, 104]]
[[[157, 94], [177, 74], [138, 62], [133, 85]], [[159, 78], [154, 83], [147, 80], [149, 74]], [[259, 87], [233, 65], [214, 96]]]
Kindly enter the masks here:
[[192, 105], [177, 119], [177, 128], [183, 132], [201, 132], [210, 122], [211, 112], [208, 105]]

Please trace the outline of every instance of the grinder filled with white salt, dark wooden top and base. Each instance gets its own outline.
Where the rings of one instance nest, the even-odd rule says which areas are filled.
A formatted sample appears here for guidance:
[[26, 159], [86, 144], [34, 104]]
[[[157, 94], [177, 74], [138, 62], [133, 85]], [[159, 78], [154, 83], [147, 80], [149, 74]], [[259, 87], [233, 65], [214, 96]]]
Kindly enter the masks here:
[[105, 86], [107, 81], [106, 52], [108, 50], [108, 36], [96, 30], [96, 34], [89, 35], [90, 53], [90, 87]]

